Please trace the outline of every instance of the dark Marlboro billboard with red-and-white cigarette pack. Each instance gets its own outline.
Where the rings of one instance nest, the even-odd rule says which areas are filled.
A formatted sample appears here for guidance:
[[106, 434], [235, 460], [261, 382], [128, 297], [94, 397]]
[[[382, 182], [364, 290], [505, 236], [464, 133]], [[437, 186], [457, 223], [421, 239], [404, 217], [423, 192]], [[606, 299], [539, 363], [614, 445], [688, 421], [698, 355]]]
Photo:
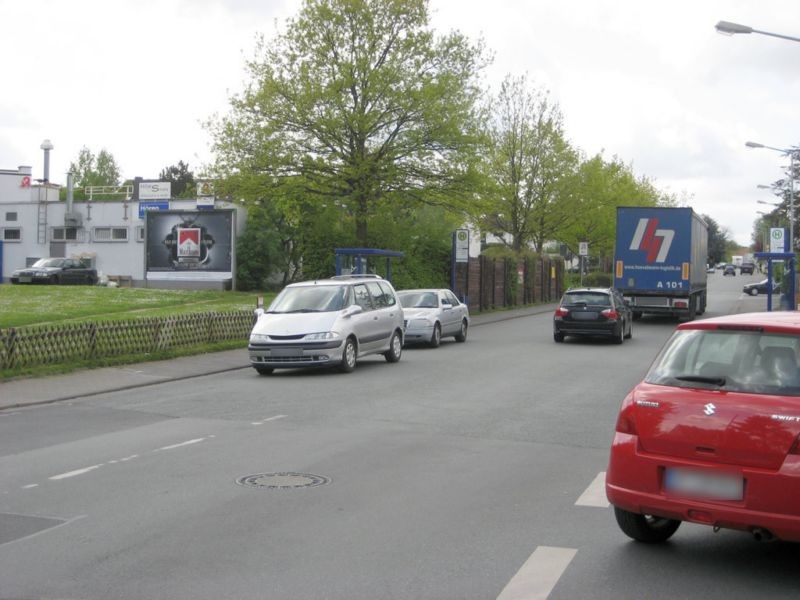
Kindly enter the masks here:
[[145, 271], [231, 276], [233, 210], [145, 211]]

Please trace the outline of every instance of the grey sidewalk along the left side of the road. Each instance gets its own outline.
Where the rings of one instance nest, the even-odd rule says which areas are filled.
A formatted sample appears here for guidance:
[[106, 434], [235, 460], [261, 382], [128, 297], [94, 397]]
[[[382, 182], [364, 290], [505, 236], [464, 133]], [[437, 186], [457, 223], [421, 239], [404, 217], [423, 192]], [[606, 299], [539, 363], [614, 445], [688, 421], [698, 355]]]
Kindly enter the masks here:
[[[553, 310], [555, 304], [541, 304], [477, 314], [472, 316], [472, 326], [549, 313]], [[85, 369], [66, 375], [15, 379], [0, 383], [0, 410], [246, 368], [250, 368], [247, 350], [241, 348], [119, 367]]]

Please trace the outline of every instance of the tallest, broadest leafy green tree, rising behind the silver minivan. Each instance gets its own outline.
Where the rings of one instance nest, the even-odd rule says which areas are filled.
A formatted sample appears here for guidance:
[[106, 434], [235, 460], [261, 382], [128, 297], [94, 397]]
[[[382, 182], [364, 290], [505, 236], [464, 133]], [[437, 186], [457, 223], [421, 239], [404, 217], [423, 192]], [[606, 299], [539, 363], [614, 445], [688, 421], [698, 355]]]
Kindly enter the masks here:
[[427, 0], [305, 0], [257, 53], [230, 114], [208, 124], [219, 175], [256, 178], [296, 217], [336, 202], [362, 245], [386, 206], [472, 189], [483, 48], [435, 36]]

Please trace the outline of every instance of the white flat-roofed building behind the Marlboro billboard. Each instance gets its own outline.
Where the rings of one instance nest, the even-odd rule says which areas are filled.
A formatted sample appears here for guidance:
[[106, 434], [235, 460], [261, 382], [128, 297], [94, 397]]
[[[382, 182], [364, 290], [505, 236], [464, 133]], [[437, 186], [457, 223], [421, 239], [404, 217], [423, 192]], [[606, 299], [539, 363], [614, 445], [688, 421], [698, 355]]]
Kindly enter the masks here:
[[[47, 171], [47, 158], [45, 159]], [[130, 277], [135, 286], [219, 287], [219, 278], [208, 274], [160, 274], [148, 280], [145, 273], [146, 204], [133, 200], [133, 186], [118, 188], [116, 200], [81, 200], [68, 206], [59, 199], [60, 185], [49, 183], [47, 174], [34, 180], [32, 168], [0, 169], [0, 276], [8, 282], [11, 272], [38, 258], [83, 258], [105, 276]], [[172, 199], [160, 208], [193, 211], [199, 208], [235, 209], [235, 235], [244, 227], [246, 212], [240, 206], [208, 198]], [[234, 235], [234, 237], [235, 237]], [[234, 263], [235, 269], [235, 263]], [[228, 278], [229, 279], [229, 278]], [[230, 283], [230, 281], [228, 281]]]

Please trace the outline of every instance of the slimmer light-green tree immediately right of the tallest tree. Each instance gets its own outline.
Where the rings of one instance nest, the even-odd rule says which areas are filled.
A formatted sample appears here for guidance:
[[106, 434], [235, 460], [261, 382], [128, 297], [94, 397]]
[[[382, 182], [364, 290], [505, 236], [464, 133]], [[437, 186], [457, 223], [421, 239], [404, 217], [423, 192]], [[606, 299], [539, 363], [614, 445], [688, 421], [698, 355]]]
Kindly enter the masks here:
[[537, 251], [574, 221], [578, 153], [558, 106], [527, 77], [507, 76], [489, 125], [489, 180], [479, 222], [519, 251]]

